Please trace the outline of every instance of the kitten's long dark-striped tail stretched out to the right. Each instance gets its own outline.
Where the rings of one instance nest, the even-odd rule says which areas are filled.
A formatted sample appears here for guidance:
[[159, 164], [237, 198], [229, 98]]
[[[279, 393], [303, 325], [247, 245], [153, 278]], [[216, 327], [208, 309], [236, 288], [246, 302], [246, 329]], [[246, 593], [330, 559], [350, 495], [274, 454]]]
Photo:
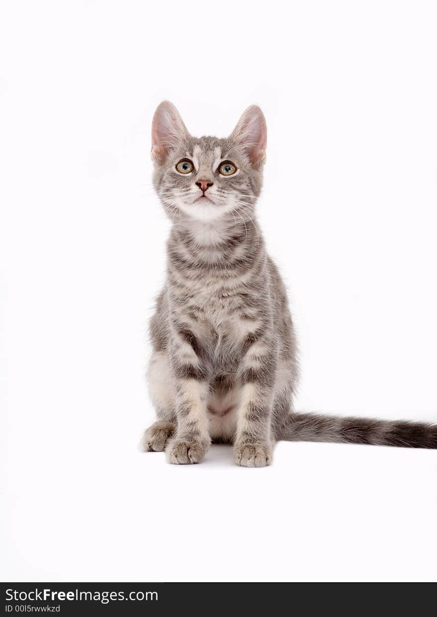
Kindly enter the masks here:
[[293, 413], [278, 439], [437, 449], [437, 424]]

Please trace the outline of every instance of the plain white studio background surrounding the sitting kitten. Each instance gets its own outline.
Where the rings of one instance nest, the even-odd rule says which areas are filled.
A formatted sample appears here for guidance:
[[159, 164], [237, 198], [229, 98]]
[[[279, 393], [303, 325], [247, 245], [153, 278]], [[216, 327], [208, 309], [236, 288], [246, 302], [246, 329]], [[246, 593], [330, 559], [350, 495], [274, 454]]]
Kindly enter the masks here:
[[437, 420], [436, 30], [417, 0], [2, 2], [3, 580], [436, 580], [436, 451], [137, 450], [164, 98], [194, 135], [265, 112], [297, 407]]

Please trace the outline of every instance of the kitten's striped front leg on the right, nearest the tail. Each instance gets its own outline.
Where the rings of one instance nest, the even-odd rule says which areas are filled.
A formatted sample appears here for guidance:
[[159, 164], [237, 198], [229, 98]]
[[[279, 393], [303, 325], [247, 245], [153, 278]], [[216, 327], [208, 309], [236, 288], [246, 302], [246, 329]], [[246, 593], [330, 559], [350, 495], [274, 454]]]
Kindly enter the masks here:
[[241, 397], [234, 440], [234, 460], [243, 467], [270, 465], [273, 455], [272, 400], [275, 355], [257, 342], [243, 358]]

